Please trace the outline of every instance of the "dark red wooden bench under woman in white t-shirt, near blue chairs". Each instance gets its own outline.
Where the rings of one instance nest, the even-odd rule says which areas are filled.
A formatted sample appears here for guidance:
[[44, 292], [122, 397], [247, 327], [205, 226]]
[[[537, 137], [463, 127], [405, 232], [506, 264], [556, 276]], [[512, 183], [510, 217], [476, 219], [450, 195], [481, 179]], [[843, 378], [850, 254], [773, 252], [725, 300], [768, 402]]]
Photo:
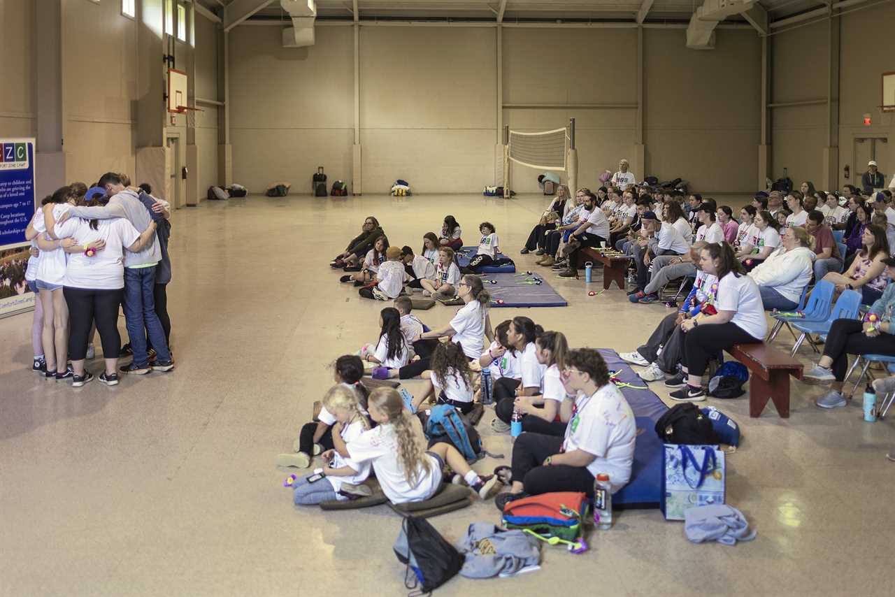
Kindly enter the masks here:
[[789, 418], [789, 376], [802, 379], [802, 363], [763, 342], [737, 344], [727, 351], [752, 372], [749, 378], [749, 416], [761, 416], [773, 400], [780, 418]]

